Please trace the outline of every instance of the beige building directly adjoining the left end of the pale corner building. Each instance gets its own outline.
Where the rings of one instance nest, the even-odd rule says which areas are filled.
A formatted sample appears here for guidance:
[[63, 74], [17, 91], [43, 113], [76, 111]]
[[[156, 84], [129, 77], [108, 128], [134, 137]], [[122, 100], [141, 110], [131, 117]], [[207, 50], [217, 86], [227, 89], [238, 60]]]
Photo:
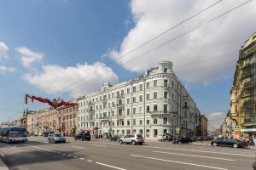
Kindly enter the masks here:
[[59, 115], [59, 128], [62, 133], [67, 136], [73, 136], [76, 133], [76, 116], [77, 116], [77, 105], [75, 106], [61, 106], [58, 110]]

